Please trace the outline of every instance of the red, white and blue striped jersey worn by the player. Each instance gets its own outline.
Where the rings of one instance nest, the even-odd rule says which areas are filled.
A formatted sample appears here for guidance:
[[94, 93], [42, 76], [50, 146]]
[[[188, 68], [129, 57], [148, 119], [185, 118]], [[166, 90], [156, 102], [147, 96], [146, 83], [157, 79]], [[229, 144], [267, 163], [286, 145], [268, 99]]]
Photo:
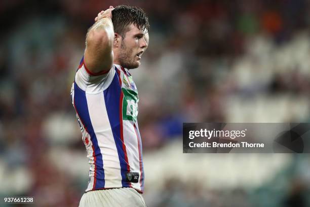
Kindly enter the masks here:
[[113, 64], [108, 72], [94, 74], [82, 58], [71, 96], [90, 163], [86, 192], [131, 187], [142, 193], [139, 98], [129, 71]]

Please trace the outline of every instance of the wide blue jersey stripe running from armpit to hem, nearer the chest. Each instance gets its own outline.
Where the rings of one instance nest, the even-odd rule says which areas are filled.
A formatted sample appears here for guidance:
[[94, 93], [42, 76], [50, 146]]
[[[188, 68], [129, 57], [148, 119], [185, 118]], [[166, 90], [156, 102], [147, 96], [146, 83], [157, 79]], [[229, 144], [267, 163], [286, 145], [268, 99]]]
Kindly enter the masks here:
[[[115, 68], [115, 70], [118, 70]], [[110, 86], [103, 91], [105, 107], [107, 115], [110, 121], [114, 142], [116, 144], [120, 164], [121, 164], [121, 175], [122, 175], [122, 186], [130, 187], [130, 183], [126, 182], [125, 174], [127, 172], [127, 163], [125, 161], [125, 152], [123, 150], [123, 142], [121, 140], [121, 127], [120, 127], [120, 97], [121, 97], [121, 86], [119, 83], [118, 73], [115, 73], [114, 78]]]

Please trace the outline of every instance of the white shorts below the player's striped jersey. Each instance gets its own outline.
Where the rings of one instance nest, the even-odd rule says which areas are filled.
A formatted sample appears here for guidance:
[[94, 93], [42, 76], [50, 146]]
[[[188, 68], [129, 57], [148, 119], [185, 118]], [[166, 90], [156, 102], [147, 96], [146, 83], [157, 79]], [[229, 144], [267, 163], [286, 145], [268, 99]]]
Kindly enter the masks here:
[[133, 188], [113, 188], [84, 193], [79, 207], [93, 206], [146, 207], [142, 195]]

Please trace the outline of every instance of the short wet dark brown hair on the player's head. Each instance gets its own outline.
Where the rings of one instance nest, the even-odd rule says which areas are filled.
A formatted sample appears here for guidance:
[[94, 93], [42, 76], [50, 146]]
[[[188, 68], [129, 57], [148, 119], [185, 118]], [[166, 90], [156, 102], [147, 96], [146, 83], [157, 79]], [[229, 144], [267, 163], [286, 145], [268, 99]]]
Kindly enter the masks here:
[[123, 38], [128, 31], [128, 26], [134, 24], [138, 29], [149, 30], [148, 18], [144, 11], [138, 7], [120, 5], [112, 10], [112, 22], [114, 32], [120, 34]]

